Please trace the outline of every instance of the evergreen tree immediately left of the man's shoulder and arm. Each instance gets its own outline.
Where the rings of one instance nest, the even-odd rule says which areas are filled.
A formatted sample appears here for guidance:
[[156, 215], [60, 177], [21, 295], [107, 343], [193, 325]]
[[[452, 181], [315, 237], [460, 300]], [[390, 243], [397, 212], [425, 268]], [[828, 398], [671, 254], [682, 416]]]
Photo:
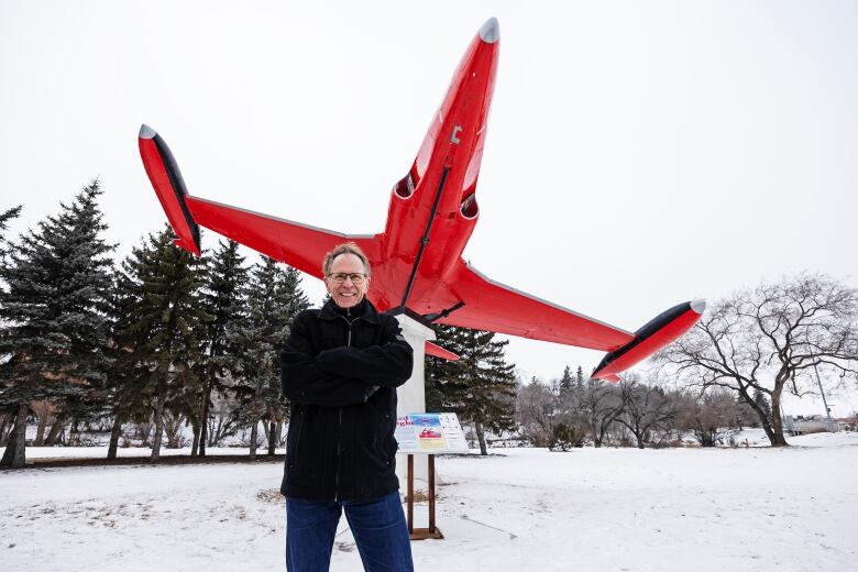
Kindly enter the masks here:
[[267, 256], [254, 265], [246, 316], [228, 329], [230, 343], [238, 348], [231, 386], [239, 399], [235, 416], [251, 428], [251, 458], [256, 457], [258, 422], [268, 424], [268, 454], [274, 454], [276, 429], [288, 417], [280, 396], [277, 352], [289, 334], [292, 320], [308, 307], [297, 270], [278, 265]]

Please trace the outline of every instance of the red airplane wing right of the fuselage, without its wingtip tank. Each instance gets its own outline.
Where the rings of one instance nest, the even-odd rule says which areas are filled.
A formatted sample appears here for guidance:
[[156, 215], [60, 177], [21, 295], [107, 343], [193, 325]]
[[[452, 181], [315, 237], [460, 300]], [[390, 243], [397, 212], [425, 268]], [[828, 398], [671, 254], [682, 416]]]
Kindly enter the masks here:
[[602, 351], [635, 339], [634, 333], [494, 282], [462, 260], [448, 288], [463, 306], [439, 323]]

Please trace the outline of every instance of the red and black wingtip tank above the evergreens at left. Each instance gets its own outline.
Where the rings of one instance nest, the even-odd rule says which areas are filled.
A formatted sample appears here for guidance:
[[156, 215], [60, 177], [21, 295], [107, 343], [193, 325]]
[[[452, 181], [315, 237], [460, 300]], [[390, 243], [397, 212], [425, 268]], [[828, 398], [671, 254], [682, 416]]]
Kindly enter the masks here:
[[161, 135], [145, 124], [140, 128], [138, 143], [148, 179], [167, 215], [169, 226], [176, 233], [176, 245], [199, 256], [199, 226], [194, 221], [185, 201], [188, 190], [173, 153]]

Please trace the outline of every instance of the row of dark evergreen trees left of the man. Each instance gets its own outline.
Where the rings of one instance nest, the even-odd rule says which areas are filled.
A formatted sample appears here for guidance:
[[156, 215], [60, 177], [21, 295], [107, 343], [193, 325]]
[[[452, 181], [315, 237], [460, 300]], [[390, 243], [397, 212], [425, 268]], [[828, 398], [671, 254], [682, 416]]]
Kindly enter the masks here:
[[[231, 241], [196, 258], [167, 227], [116, 263], [101, 193], [94, 180], [16, 241], [1, 239], [2, 465], [24, 464], [31, 414], [38, 444], [109, 424], [110, 459], [128, 424], [151, 433], [152, 460], [184, 425], [193, 455], [250, 427], [253, 457], [261, 424], [273, 453], [288, 417], [276, 353], [309, 306], [298, 271], [267, 257], [249, 265]], [[20, 211], [0, 215], [3, 234]]]

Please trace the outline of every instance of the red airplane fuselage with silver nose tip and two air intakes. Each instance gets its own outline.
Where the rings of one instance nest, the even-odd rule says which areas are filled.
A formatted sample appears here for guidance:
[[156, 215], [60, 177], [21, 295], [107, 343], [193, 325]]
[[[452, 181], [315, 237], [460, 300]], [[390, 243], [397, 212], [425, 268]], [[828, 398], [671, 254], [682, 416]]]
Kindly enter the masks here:
[[492, 33], [484, 26], [471, 42], [408, 175], [394, 186], [373, 282], [385, 286], [376, 293], [402, 298], [376, 298], [382, 308], [439, 311], [433, 290], [454, 272], [473, 232], [499, 48]]

